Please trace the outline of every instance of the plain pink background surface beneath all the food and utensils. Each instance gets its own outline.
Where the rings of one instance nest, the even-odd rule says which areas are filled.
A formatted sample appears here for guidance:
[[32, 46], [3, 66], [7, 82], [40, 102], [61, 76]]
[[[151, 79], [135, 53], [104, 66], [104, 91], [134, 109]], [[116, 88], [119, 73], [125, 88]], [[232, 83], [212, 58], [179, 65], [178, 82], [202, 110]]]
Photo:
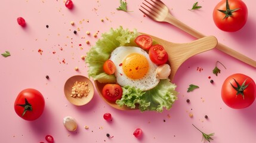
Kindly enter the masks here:
[[[212, 10], [219, 0], [200, 0], [202, 8], [195, 11], [188, 9], [196, 1], [163, 1], [179, 20], [205, 35], [216, 36], [219, 42], [256, 60], [255, 1], [244, 0], [248, 6], [248, 21], [242, 30], [235, 33], [219, 30], [212, 20]], [[76, 74], [87, 76], [87, 66], [81, 56], [110, 27], [135, 28], [177, 43], [195, 40], [169, 24], [143, 17], [138, 10], [142, 0], [127, 2], [128, 10], [133, 11], [131, 13], [116, 10], [119, 0], [73, 0], [73, 10], [67, 9], [62, 0], [1, 1], [0, 52], [11, 52], [10, 57], [0, 56], [1, 142], [46, 142], [44, 138], [48, 134], [54, 137], [55, 142], [201, 142], [202, 134], [192, 124], [205, 133], [214, 132], [214, 141], [211, 142], [255, 142], [256, 102], [243, 110], [234, 110], [221, 100], [220, 90], [230, 74], [243, 73], [256, 80], [256, 70], [217, 49], [196, 55], [180, 67], [173, 81], [180, 94], [169, 111], [141, 113], [138, 110], [116, 110], [107, 105], [97, 92], [92, 101], [82, 107], [66, 100], [64, 83]], [[17, 24], [17, 17], [26, 20], [25, 28]], [[75, 21], [75, 25], [72, 26], [70, 21]], [[45, 27], [47, 24], [48, 29]], [[77, 35], [73, 30], [78, 31]], [[87, 30], [91, 32], [90, 36], [86, 35]], [[98, 38], [94, 38], [97, 32]], [[85, 43], [87, 40], [90, 45]], [[42, 55], [38, 49], [42, 49]], [[66, 63], [62, 62], [63, 59]], [[217, 60], [227, 69], [218, 66], [221, 74], [215, 76], [212, 69]], [[75, 67], [79, 67], [79, 71], [75, 71]], [[197, 71], [198, 67], [203, 71]], [[50, 80], [45, 78], [46, 75]], [[209, 82], [208, 76], [214, 84]], [[187, 93], [190, 84], [200, 88]], [[13, 108], [18, 93], [25, 88], [38, 89], [45, 97], [45, 111], [33, 122], [18, 117]], [[187, 99], [190, 99], [189, 104]], [[103, 119], [106, 112], [112, 114], [112, 122]], [[76, 132], [64, 128], [62, 120], [65, 116], [77, 120]], [[85, 125], [89, 129], [84, 129]], [[136, 128], [143, 130], [142, 138], [132, 135]], [[107, 138], [106, 133], [110, 133], [112, 138]]]

